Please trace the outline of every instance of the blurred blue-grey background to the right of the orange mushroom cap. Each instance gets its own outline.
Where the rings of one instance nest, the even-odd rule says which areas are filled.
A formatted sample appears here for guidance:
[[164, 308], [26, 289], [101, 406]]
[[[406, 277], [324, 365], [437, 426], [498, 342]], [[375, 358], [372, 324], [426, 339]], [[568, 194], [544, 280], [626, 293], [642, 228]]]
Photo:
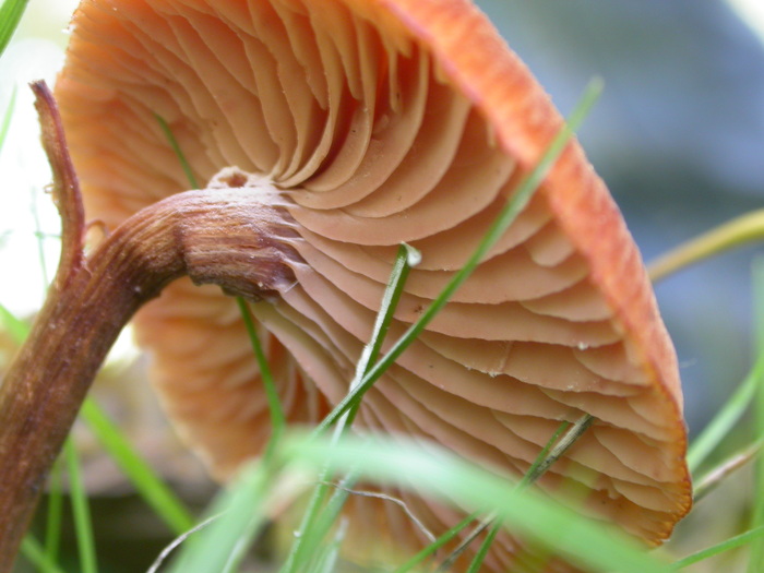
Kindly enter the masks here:
[[[748, 12], [711, 0], [480, 4], [563, 112], [589, 77], [605, 79], [580, 138], [646, 261], [762, 206], [764, 48], [753, 21], [741, 19]], [[657, 286], [691, 430], [749, 369], [754, 253]]]

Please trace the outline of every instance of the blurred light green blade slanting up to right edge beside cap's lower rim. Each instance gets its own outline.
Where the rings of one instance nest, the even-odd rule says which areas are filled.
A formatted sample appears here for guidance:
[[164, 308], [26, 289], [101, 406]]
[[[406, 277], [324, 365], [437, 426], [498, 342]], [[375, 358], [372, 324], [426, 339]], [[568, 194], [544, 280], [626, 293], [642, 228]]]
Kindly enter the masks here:
[[725, 405], [714, 416], [714, 419], [690, 444], [688, 451], [688, 466], [695, 475], [703, 462], [714, 449], [725, 439], [729, 431], [740, 420], [756, 393], [759, 381], [764, 377], [764, 353], [756, 358], [753, 369], [740, 383]]

